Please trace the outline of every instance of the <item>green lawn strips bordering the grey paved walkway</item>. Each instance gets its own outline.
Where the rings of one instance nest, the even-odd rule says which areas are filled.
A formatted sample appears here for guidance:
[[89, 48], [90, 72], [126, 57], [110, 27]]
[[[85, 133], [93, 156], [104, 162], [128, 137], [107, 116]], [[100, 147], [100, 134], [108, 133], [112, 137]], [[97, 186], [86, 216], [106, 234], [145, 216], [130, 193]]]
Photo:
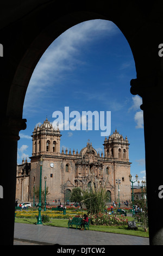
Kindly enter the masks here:
[[[127, 217], [129, 221], [133, 220], [132, 217]], [[15, 222], [17, 223], [28, 223], [28, 224], [36, 224], [36, 218], [15, 218]], [[50, 225], [52, 227], [62, 227], [67, 228], [68, 220], [61, 219], [51, 219], [48, 223], [43, 223], [43, 225]], [[126, 227], [121, 226], [106, 226], [106, 225], [90, 225], [89, 230], [101, 231], [101, 232], [109, 232], [116, 234], [126, 234], [126, 235], [135, 235], [135, 236], [143, 236], [149, 237], [149, 233], [145, 232], [143, 228], [138, 228], [138, 230], [129, 230]]]

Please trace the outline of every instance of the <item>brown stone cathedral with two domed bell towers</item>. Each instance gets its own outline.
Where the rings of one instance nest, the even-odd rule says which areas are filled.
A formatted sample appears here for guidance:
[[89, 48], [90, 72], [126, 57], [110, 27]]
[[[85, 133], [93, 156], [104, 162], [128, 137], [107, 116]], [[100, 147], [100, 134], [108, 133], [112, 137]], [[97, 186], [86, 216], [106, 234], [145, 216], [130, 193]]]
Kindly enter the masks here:
[[[42, 156], [42, 190], [48, 187], [47, 202], [55, 199], [64, 204], [74, 187], [86, 190], [92, 184], [105, 187], [109, 202], [130, 200], [129, 142], [117, 130], [104, 140], [104, 155], [99, 155], [92, 143], [87, 142], [80, 152], [64, 149], [60, 152], [61, 134], [47, 120], [33, 131], [33, 150], [27, 159], [17, 165], [16, 199], [33, 202], [34, 188], [40, 184], [40, 158]], [[118, 184], [119, 183], [119, 184]]]

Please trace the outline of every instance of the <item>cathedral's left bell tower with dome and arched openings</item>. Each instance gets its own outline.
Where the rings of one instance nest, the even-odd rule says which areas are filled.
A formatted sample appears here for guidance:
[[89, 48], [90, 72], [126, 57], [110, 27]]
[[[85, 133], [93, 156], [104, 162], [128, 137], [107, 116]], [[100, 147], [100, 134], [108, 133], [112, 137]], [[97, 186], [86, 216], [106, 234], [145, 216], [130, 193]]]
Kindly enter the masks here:
[[60, 137], [59, 128], [54, 129], [46, 118], [42, 125], [34, 128], [32, 156], [60, 154]]

